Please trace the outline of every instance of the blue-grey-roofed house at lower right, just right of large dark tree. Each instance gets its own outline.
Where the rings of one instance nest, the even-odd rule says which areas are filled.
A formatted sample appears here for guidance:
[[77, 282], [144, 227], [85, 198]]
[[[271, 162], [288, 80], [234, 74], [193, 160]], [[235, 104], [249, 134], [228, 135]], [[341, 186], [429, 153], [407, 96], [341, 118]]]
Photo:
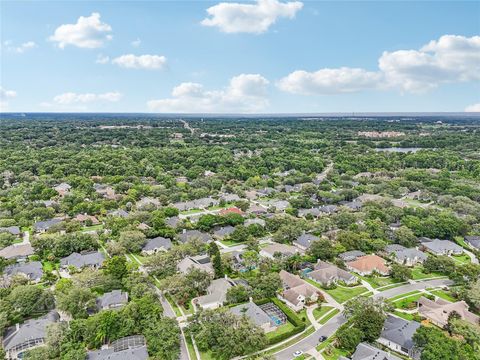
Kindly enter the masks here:
[[388, 315], [377, 341], [393, 351], [418, 359], [420, 351], [415, 348], [413, 335], [420, 326], [419, 322]]

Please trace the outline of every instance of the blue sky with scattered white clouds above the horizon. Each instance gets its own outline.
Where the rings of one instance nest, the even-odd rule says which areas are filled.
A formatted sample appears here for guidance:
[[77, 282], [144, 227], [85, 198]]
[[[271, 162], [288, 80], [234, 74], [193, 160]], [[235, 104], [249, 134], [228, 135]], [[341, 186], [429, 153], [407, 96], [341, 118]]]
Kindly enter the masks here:
[[5, 112], [480, 112], [479, 1], [4, 1]]

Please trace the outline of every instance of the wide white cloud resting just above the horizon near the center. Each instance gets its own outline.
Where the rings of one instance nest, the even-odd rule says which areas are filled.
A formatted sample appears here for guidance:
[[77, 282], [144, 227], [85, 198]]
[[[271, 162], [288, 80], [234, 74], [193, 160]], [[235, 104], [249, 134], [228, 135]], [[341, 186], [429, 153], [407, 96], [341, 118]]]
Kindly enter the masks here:
[[172, 97], [150, 100], [150, 110], [166, 113], [255, 112], [268, 106], [268, 80], [259, 74], [240, 74], [223, 90], [205, 90], [203, 85], [186, 82], [176, 86]]

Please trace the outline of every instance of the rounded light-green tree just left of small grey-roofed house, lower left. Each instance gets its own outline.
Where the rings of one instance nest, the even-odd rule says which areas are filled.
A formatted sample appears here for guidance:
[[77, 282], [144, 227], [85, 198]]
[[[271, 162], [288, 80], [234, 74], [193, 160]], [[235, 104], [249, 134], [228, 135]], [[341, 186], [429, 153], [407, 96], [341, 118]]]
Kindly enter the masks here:
[[73, 286], [67, 293], [58, 294], [57, 306], [74, 319], [86, 319], [88, 310], [95, 308], [95, 298], [90, 289]]

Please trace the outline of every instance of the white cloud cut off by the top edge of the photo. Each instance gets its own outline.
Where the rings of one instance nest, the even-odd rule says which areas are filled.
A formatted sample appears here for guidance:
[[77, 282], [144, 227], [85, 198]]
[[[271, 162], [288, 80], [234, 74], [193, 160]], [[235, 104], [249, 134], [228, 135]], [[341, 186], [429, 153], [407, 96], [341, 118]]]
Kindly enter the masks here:
[[256, 4], [219, 3], [207, 9], [210, 17], [201, 24], [215, 26], [225, 33], [256, 33], [268, 30], [278, 18], [295, 17], [303, 3], [257, 0]]

